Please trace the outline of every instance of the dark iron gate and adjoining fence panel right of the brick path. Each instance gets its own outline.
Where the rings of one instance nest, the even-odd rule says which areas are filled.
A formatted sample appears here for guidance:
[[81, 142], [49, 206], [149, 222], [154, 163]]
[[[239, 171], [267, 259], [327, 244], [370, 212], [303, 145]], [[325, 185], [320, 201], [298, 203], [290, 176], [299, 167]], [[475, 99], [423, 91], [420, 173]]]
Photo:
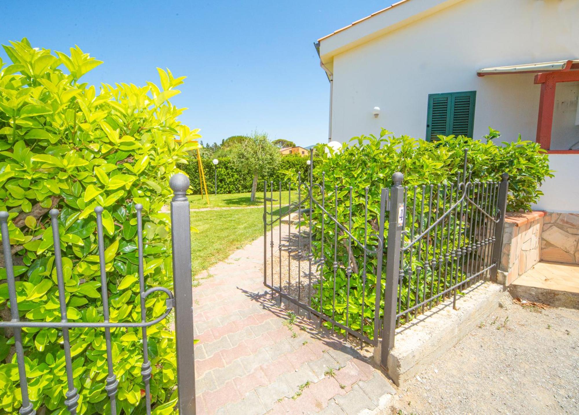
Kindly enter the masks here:
[[471, 181], [467, 152], [455, 181], [403, 178], [394, 173], [379, 206], [368, 187], [328, 187], [324, 173], [314, 183], [311, 168], [307, 183], [263, 188], [263, 284], [332, 334], [380, 344], [384, 365], [397, 327], [496, 277], [507, 203], [508, 175]]

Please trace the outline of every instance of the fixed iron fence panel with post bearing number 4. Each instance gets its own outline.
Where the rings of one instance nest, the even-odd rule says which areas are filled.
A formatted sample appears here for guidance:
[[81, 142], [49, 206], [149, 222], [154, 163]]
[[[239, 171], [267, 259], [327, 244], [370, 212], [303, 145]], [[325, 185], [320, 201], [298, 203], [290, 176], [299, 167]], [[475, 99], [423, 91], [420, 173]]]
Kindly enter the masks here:
[[[465, 155], [466, 160], [466, 155]], [[507, 207], [502, 181], [471, 181], [465, 169], [455, 183], [402, 187], [394, 173], [384, 292], [383, 364], [396, 327], [408, 323], [475, 281], [496, 278]]]

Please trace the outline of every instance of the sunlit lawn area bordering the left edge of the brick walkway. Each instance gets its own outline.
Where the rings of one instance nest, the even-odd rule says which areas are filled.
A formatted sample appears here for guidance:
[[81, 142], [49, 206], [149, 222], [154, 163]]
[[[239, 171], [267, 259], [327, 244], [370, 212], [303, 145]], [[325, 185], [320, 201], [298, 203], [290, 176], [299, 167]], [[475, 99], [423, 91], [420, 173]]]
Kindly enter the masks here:
[[[287, 206], [282, 207], [281, 214], [285, 212]], [[262, 215], [261, 209], [191, 212], [191, 225], [199, 231], [191, 234], [193, 275], [226, 260], [233, 251], [263, 235]]]

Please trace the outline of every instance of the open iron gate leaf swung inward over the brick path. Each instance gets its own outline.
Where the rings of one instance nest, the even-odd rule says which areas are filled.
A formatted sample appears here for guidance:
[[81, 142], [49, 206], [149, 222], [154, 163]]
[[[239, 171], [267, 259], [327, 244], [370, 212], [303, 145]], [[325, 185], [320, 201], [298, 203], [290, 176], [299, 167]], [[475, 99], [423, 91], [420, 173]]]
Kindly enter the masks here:
[[[378, 344], [381, 313], [374, 310], [380, 310], [382, 291], [384, 214], [368, 209], [368, 188], [363, 194], [353, 187], [327, 189], [324, 175], [314, 183], [310, 169], [307, 183], [300, 174], [295, 183], [266, 182], [263, 198], [263, 284], [280, 305], [285, 299], [290, 310], [332, 334], [360, 347]], [[380, 206], [384, 212], [386, 195]], [[345, 223], [338, 212], [347, 216]], [[353, 234], [359, 215], [373, 225]]]

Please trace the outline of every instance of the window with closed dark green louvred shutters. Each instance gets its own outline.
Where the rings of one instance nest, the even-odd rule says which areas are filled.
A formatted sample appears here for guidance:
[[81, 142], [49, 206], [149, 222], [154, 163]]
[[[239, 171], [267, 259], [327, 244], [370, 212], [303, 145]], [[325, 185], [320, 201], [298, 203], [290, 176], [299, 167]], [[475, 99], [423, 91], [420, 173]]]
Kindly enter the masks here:
[[472, 137], [476, 98], [477, 91], [428, 95], [426, 139], [451, 134]]

